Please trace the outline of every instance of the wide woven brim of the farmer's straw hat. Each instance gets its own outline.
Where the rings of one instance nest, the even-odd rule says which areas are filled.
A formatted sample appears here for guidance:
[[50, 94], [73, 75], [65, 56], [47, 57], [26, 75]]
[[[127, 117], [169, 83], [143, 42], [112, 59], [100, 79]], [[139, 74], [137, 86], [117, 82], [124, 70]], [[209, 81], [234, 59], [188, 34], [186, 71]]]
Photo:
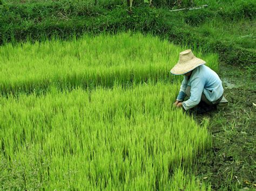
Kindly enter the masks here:
[[180, 63], [178, 62], [172, 69], [171, 73], [176, 75], [185, 74], [187, 72], [190, 72], [194, 68], [204, 65], [206, 62], [204, 60], [201, 60], [197, 57], [191, 59], [190, 61], [186, 61], [186, 63]]

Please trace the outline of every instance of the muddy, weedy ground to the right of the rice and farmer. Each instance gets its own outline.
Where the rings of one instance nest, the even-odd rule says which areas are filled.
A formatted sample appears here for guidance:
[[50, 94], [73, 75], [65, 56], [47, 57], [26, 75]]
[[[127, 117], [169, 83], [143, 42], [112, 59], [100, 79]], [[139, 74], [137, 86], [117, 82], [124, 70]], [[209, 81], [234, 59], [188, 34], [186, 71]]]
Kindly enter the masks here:
[[[196, 116], [210, 120], [212, 148], [200, 156], [193, 173], [213, 190], [255, 190], [255, 69], [221, 63], [224, 96], [229, 105], [223, 110]], [[254, 103], [254, 104], [253, 104]]]

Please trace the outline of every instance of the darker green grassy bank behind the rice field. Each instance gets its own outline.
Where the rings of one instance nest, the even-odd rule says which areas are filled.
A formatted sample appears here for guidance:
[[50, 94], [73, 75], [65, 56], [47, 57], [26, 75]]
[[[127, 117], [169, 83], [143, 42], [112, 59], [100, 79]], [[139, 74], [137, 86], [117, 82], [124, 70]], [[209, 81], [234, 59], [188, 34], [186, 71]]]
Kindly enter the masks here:
[[[191, 48], [201, 47], [203, 52], [217, 52], [227, 63], [255, 66], [255, 1], [197, 1], [198, 5], [207, 3], [208, 8], [178, 12], [148, 5], [134, 6], [130, 11], [124, 4], [110, 2], [107, 6], [98, 2], [95, 5], [87, 1], [46, 1], [2, 6], [0, 44], [131, 30]], [[239, 32], [245, 22], [252, 24]], [[231, 30], [223, 33], [218, 23], [230, 26]], [[251, 42], [250, 46], [241, 44], [244, 39]]]

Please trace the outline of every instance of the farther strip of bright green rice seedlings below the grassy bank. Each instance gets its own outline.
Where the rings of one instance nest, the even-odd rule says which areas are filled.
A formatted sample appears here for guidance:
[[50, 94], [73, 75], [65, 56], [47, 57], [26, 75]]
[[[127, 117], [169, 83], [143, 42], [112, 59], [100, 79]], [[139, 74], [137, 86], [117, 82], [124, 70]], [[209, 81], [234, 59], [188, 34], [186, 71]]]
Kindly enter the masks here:
[[[0, 92], [18, 94], [75, 87], [130, 86], [147, 81], [177, 82], [170, 74], [185, 47], [175, 46], [142, 34], [84, 36], [72, 41], [11, 44], [0, 47]], [[202, 55], [207, 65], [218, 70], [215, 54]]]

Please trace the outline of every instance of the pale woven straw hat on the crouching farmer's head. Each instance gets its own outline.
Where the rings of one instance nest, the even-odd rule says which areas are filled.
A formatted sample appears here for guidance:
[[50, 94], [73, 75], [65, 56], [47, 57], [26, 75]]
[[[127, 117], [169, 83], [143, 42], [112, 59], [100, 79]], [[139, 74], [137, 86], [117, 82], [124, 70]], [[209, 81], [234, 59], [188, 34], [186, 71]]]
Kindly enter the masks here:
[[194, 56], [191, 49], [186, 49], [186, 51], [179, 53], [179, 61], [171, 69], [171, 73], [176, 75], [185, 74], [205, 63], [206, 62], [204, 60]]

